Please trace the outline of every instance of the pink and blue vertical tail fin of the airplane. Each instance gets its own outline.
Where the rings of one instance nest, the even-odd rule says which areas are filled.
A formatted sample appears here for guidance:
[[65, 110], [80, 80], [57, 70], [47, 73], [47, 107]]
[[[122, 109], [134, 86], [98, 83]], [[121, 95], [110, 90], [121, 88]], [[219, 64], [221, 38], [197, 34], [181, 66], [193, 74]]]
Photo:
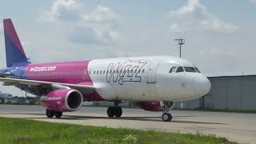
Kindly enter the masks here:
[[25, 66], [29, 64], [30, 61], [26, 58], [26, 54], [10, 18], [3, 20], [3, 27], [6, 42], [6, 66]]

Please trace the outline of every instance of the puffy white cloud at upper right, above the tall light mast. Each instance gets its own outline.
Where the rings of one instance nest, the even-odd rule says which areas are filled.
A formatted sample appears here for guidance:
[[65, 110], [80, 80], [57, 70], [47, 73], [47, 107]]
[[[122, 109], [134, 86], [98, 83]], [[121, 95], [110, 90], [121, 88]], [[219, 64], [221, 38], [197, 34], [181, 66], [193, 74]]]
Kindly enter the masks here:
[[[210, 14], [206, 6], [200, 3], [200, 0], [187, 0], [186, 5], [178, 10], [170, 10], [168, 14], [172, 20], [169, 30], [171, 32], [183, 32], [185, 30], [210, 30], [222, 33], [231, 33], [238, 30], [228, 22], [220, 20], [216, 15]], [[186, 27], [186, 29], [184, 29]], [[177, 29], [177, 30], [175, 30]]]

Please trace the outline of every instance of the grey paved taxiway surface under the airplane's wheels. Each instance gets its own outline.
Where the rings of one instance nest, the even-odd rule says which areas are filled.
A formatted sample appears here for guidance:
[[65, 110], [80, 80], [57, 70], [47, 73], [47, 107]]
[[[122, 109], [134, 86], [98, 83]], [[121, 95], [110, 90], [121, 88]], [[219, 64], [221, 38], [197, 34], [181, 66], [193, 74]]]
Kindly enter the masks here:
[[122, 127], [180, 133], [215, 134], [239, 143], [256, 143], [256, 114], [171, 111], [172, 122], [162, 122], [162, 113], [123, 109], [122, 118], [108, 118], [104, 107], [82, 107], [64, 113], [61, 119], [46, 118], [42, 106], [0, 105], [0, 117], [29, 118], [86, 126]]

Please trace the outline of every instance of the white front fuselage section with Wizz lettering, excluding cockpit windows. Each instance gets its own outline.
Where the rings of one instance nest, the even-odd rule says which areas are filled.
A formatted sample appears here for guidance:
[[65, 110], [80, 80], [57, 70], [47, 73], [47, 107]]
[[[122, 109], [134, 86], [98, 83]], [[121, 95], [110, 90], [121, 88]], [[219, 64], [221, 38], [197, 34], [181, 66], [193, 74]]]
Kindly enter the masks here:
[[170, 73], [174, 66], [194, 67], [174, 57], [110, 58], [91, 60], [88, 73], [98, 94], [109, 101], [178, 102], [209, 92], [202, 73]]

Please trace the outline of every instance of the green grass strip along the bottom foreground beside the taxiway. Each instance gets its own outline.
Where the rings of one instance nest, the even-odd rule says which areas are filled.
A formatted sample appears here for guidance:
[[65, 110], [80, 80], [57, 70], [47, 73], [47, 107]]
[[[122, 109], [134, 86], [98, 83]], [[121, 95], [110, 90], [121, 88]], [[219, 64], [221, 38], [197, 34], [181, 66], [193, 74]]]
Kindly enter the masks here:
[[231, 143], [213, 135], [79, 126], [0, 118], [1, 143]]

